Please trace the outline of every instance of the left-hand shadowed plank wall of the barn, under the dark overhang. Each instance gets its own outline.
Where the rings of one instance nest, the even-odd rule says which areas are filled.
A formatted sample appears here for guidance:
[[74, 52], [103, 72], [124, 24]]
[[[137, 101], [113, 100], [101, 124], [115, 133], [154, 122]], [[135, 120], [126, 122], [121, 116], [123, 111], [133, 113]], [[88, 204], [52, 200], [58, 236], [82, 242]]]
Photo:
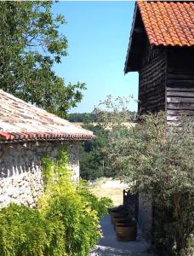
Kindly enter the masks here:
[[167, 57], [158, 55], [140, 70], [139, 113], [165, 110]]

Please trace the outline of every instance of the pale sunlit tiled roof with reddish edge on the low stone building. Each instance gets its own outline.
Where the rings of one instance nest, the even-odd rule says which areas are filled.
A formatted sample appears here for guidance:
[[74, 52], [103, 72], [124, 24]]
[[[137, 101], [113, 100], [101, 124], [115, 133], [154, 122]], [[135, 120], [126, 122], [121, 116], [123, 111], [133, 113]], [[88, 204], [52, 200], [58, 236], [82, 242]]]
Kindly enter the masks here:
[[92, 131], [73, 125], [0, 90], [0, 143], [22, 140], [87, 140]]

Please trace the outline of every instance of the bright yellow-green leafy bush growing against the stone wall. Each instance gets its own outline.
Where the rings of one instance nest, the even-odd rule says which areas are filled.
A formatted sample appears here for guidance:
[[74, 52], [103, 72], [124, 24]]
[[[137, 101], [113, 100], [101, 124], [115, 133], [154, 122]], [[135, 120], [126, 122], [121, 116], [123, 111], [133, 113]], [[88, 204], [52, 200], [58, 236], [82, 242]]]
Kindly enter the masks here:
[[86, 256], [99, 241], [99, 221], [111, 206], [85, 183], [71, 181], [67, 154], [43, 159], [44, 193], [38, 208], [11, 204], [0, 211], [1, 256]]

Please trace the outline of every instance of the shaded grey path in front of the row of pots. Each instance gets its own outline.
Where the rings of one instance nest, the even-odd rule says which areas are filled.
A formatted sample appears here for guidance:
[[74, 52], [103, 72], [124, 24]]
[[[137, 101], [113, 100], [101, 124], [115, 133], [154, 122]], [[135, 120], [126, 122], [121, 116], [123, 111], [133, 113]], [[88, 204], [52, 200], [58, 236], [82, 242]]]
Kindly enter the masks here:
[[[110, 216], [101, 220], [104, 237], [99, 245], [90, 253], [91, 256], [151, 256], [147, 253], [149, 244], [145, 242], [140, 232], [136, 241], [117, 241], [116, 233], [111, 225]], [[153, 255], [152, 255], [153, 256]]]

